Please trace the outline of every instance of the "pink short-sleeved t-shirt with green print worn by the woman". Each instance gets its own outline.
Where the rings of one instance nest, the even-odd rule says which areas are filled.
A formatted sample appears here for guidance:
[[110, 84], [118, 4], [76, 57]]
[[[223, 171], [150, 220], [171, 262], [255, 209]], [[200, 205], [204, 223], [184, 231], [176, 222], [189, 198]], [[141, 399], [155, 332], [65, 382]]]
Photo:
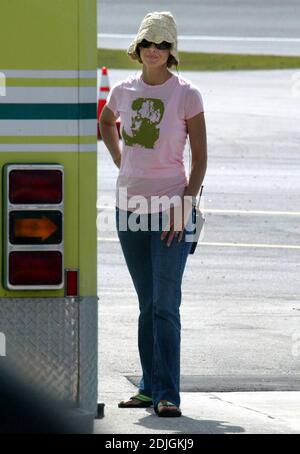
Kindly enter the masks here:
[[175, 74], [161, 85], [129, 76], [113, 86], [107, 107], [120, 117], [123, 141], [116, 205], [154, 213], [167, 209], [174, 196], [178, 205], [188, 184], [186, 120], [204, 111], [198, 88]]

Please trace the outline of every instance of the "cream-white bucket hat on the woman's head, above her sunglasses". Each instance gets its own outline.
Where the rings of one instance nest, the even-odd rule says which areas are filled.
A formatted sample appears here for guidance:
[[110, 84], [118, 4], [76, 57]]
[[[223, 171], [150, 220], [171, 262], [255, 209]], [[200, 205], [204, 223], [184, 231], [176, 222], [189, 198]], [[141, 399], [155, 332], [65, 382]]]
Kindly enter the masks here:
[[179, 57], [177, 52], [177, 27], [175, 19], [169, 11], [148, 13], [141, 22], [139, 31], [127, 49], [127, 54], [132, 60], [140, 60], [137, 54], [137, 45], [146, 39], [151, 43], [159, 44], [167, 41], [172, 44], [170, 54], [177, 64]]

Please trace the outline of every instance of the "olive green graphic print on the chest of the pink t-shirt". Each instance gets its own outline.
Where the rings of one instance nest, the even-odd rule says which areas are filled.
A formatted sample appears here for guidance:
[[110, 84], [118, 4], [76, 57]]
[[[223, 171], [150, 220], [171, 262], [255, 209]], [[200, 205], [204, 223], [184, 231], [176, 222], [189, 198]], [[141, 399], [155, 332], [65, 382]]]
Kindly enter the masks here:
[[154, 144], [159, 138], [160, 130], [156, 127], [164, 115], [165, 106], [161, 99], [156, 98], [137, 98], [133, 101], [131, 108], [132, 135], [126, 133], [124, 126], [122, 137], [129, 147], [142, 145], [145, 148], [154, 148]]

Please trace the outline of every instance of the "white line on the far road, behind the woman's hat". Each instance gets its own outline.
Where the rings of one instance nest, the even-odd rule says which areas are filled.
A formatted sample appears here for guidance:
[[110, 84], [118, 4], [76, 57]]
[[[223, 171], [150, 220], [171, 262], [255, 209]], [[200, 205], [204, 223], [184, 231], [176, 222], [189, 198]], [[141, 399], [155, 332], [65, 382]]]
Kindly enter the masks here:
[[[98, 33], [98, 38], [134, 38], [135, 35], [127, 33]], [[249, 42], [288, 42], [300, 43], [300, 38], [279, 38], [274, 36], [209, 36], [209, 35], [179, 35], [182, 41], [249, 41]]]

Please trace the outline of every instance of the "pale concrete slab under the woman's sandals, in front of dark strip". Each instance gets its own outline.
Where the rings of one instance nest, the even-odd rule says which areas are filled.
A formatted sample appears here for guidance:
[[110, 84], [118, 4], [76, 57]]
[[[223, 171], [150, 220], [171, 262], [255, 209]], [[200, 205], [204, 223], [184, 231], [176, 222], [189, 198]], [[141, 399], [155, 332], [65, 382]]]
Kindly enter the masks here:
[[[132, 387], [126, 391], [126, 397], [135, 392]], [[145, 434], [147, 446], [159, 434], [170, 439], [172, 434], [300, 433], [300, 392], [183, 393], [181, 418], [158, 418], [152, 408], [117, 408], [120, 392], [106, 397], [105, 418], [95, 422], [95, 433], [114, 434], [115, 439], [116, 434]], [[201, 449], [202, 440], [194, 446]]]

